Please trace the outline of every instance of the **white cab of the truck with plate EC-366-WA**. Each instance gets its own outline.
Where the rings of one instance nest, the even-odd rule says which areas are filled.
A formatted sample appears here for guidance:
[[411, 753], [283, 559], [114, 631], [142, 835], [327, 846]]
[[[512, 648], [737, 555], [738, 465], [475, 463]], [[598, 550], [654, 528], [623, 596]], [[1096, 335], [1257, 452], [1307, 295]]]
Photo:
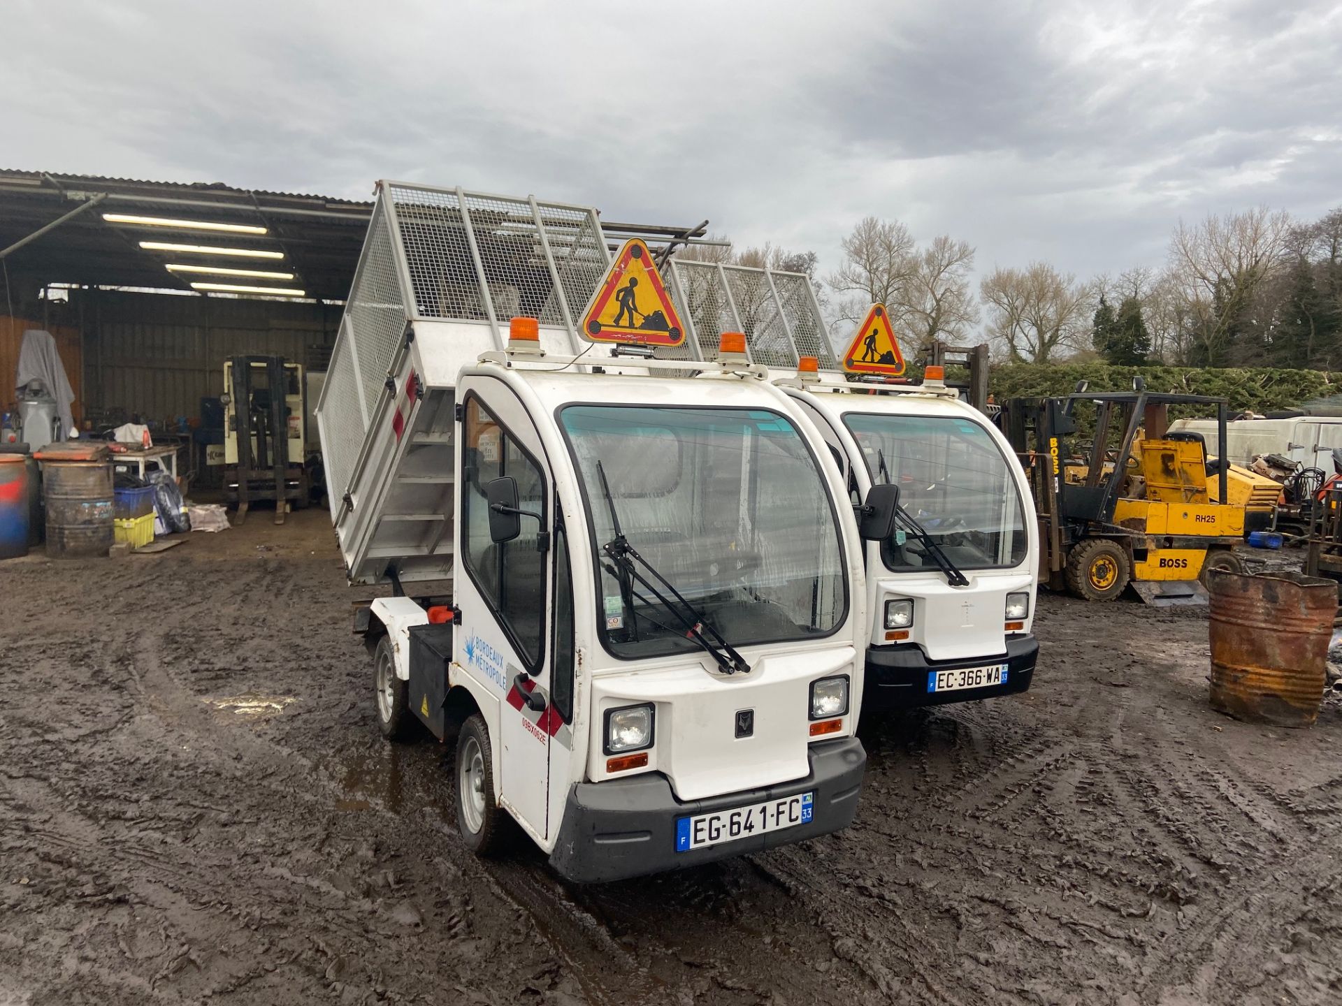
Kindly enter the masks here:
[[863, 543], [864, 710], [1027, 691], [1039, 653], [1039, 541], [1005, 437], [939, 376], [851, 384], [812, 369], [777, 384], [824, 439], [854, 504], [872, 486], [899, 487], [892, 534]]

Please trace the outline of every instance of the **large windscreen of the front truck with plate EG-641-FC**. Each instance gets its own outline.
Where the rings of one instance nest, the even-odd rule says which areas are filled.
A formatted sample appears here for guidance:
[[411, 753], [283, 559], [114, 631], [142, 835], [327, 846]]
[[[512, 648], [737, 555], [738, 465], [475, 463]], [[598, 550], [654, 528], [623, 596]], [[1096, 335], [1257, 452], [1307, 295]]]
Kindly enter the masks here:
[[[561, 425], [592, 523], [611, 653], [698, 651], [686, 618], [731, 645], [824, 636], [843, 622], [835, 510], [790, 420], [764, 409], [570, 405]], [[687, 604], [646, 569], [655, 590], [612, 561], [616, 524]]]

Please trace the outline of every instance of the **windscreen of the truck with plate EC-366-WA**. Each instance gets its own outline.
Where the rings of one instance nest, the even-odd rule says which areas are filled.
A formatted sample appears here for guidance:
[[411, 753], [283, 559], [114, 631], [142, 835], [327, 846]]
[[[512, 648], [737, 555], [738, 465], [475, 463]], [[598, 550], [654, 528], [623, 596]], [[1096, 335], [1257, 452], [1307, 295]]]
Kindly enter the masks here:
[[[1025, 558], [1020, 491], [992, 435], [954, 416], [844, 416], [874, 483], [899, 487], [899, 506], [961, 570], [1016, 566]], [[937, 569], [906, 530], [882, 543], [892, 570]]]

